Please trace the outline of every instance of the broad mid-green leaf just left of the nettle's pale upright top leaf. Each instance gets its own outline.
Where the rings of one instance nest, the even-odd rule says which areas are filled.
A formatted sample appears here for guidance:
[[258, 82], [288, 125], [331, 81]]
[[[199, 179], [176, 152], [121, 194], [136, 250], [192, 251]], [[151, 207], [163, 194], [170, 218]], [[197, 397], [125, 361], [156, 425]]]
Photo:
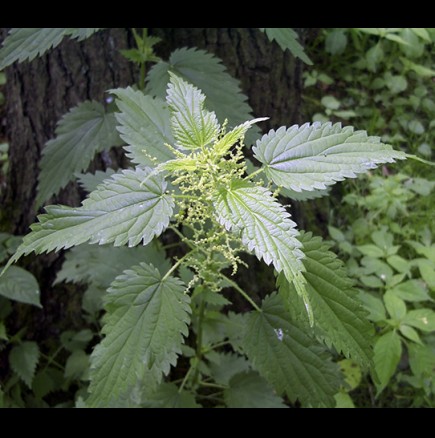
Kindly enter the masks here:
[[116, 113], [117, 129], [127, 143], [125, 150], [133, 163], [150, 166], [175, 158], [165, 146], [174, 143], [166, 103], [131, 87], [111, 92], [117, 96], [120, 110]]

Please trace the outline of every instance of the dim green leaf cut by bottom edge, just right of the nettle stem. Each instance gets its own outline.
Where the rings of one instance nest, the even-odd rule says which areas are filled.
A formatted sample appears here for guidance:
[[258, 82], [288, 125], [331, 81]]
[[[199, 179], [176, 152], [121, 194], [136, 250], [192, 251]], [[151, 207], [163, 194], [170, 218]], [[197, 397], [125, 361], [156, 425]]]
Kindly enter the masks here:
[[229, 408], [286, 408], [281, 397], [254, 371], [236, 374], [224, 391]]

